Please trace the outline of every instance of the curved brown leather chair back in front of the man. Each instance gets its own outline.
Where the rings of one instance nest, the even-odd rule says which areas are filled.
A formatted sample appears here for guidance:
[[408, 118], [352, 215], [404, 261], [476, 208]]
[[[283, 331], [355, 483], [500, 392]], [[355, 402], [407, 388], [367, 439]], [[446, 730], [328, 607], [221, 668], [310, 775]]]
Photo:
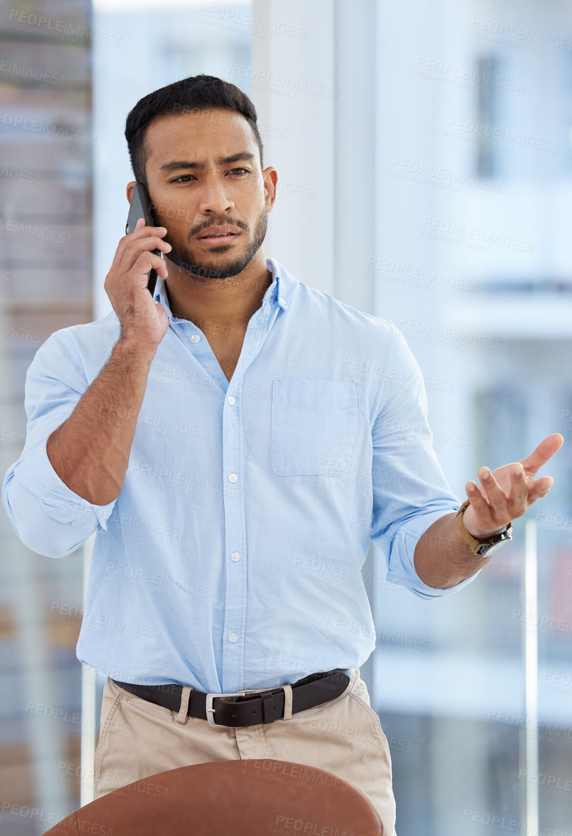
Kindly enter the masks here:
[[44, 836], [382, 836], [361, 790], [289, 761], [217, 761], [134, 781]]

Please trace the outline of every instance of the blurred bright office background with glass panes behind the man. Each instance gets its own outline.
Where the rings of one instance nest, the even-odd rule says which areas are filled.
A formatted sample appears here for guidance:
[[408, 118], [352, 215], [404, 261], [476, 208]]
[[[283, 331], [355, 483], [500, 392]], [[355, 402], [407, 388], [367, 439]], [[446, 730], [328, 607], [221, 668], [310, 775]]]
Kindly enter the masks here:
[[[238, 84], [280, 178], [266, 253], [402, 329], [453, 492], [462, 500], [479, 466], [564, 436], [541, 472], [554, 477], [549, 496], [461, 593], [427, 601], [388, 584], [370, 546], [377, 648], [362, 676], [392, 752], [397, 833], [524, 833], [531, 787], [540, 832], [572, 830], [572, 10], [3, 0], [0, 42], [2, 472], [23, 446], [38, 344], [109, 311], [128, 111], [187, 75]], [[355, 360], [350, 379], [376, 374]], [[13, 836], [89, 798], [80, 742], [97, 741], [104, 677], [84, 670], [82, 691], [75, 656], [89, 544], [44, 558], [0, 516], [0, 833]], [[525, 520], [536, 523], [535, 615]], [[538, 779], [526, 773], [530, 742]]]

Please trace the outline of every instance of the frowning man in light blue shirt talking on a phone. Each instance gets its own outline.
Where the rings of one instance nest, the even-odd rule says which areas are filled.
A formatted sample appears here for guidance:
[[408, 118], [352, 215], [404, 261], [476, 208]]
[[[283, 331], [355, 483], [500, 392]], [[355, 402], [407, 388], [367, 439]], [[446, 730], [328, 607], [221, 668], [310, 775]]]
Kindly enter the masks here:
[[[534, 477], [564, 439], [482, 467], [459, 514], [418, 443], [427, 397], [401, 332], [266, 258], [277, 173], [250, 99], [184, 79], [141, 99], [125, 135], [162, 226], [119, 242], [114, 313], [38, 350], [3, 487], [38, 553], [97, 532], [77, 647], [107, 675], [96, 796], [274, 757], [355, 783], [391, 836], [389, 748], [359, 676], [375, 646], [369, 540], [393, 583], [461, 589], [548, 492]], [[366, 360], [380, 371], [356, 380]]]

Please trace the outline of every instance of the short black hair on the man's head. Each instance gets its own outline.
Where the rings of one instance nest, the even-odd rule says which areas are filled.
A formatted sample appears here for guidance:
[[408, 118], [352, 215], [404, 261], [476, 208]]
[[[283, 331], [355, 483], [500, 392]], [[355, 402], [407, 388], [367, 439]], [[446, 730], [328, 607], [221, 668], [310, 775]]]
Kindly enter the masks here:
[[125, 122], [125, 139], [135, 180], [147, 185], [145, 163], [147, 152], [144, 145], [145, 131], [159, 116], [185, 114], [191, 111], [223, 108], [234, 110], [244, 116], [254, 133], [261, 155], [262, 140], [256, 124], [256, 109], [251, 99], [235, 84], [217, 78], [215, 75], [192, 75], [188, 79], [175, 81], [154, 90], [139, 99], [129, 112]]

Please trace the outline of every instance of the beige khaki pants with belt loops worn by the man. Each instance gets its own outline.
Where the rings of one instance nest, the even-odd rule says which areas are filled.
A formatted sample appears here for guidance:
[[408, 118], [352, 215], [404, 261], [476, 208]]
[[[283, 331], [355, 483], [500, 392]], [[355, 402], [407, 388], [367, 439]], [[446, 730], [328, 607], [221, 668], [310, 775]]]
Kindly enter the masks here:
[[[288, 704], [291, 691], [286, 687], [286, 715]], [[352, 668], [346, 691], [335, 700], [289, 719], [245, 728], [213, 728], [206, 720], [187, 716], [185, 706], [179, 713], [170, 711], [124, 691], [109, 677], [105, 682], [95, 798], [168, 769], [245, 758], [273, 758], [332, 772], [362, 790], [382, 819], [384, 836], [395, 836], [389, 746], [359, 668]]]

